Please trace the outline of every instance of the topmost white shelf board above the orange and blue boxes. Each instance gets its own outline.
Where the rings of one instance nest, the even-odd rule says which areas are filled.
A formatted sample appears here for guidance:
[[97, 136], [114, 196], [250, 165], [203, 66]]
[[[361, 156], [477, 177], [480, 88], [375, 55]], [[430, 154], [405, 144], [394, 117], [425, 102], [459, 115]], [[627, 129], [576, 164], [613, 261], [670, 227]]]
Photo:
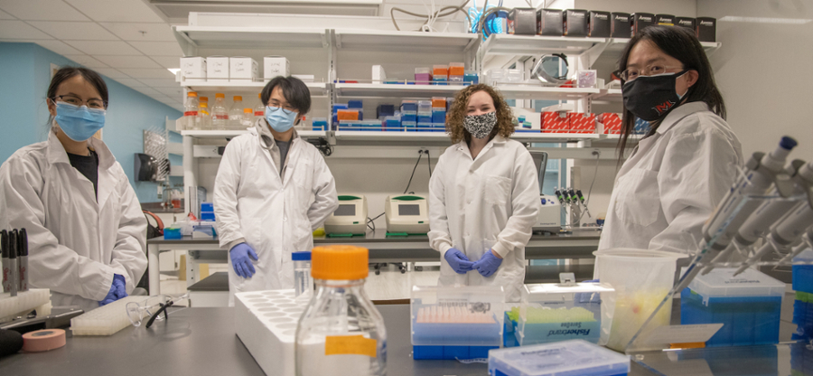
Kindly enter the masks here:
[[479, 34], [423, 33], [377, 30], [333, 30], [343, 50], [463, 53], [477, 45]]

